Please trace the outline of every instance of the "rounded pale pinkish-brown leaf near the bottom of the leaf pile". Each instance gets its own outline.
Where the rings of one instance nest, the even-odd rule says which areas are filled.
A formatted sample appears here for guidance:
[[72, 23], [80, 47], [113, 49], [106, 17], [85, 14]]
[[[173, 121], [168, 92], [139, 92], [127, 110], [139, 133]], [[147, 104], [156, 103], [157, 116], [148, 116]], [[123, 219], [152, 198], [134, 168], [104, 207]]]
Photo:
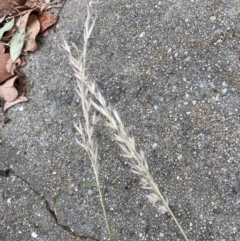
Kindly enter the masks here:
[[4, 84], [0, 85], [0, 98], [7, 102], [14, 101], [18, 97], [18, 91], [14, 87], [15, 80], [18, 76], [14, 76], [7, 80]]

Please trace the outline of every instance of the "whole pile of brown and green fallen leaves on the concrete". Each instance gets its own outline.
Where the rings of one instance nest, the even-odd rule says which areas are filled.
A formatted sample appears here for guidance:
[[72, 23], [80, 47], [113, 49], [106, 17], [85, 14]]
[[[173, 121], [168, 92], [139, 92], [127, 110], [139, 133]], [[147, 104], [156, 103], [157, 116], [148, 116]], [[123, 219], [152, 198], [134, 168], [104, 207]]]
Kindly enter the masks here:
[[38, 35], [57, 22], [58, 16], [47, 10], [48, 0], [0, 1], [0, 99], [3, 112], [11, 106], [28, 101], [24, 74], [25, 55], [37, 50]]

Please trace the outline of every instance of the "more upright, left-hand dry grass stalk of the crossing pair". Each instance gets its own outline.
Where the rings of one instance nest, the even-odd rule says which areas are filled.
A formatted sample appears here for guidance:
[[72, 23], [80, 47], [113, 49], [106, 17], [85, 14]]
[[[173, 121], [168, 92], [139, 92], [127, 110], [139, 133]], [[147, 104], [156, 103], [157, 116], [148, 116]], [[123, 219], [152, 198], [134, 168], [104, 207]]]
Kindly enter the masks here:
[[[89, 3], [87, 5], [87, 17], [85, 19], [85, 24], [84, 24], [85, 25], [84, 45], [83, 45], [82, 53], [79, 54], [77, 47], [74, 46], [75, 49], [78, 52], [78, 59], [76, 59], [76, 61], [78, 63], [79, 71], [81, 72], [81, 78], [84, 79], [84, 80], [87, 79], [87, 77], [85, 75], [87, 43], [88, 43], [88, 39], [91, 35], [92, 29], [93, 29], [93, 26], [94, 26], [94, 23], [95, 23], [95, 20], [93, 20], [91, 25], [90, 25], [91, 11], [92, 11], [91, 10], [91, 4]], [[101, 206], [102, 206], [102, 210], [103, 210], [103, 214], [104, 214], [104, 219], [105, 219], [106, 227], [107, 227], [107, 230], [108, 230], [109, 239], [112, 241], [113, 237], [112, 237], [112, 232], [111, 232], [110, 223], [109, 223], [109, 219], [108, 219], [105, 195], [104, 195], [104, 191], [102, 190], [102, 187], [101, 187], [100, 182], [99, 182], [97, 143], [93, 139], [94, 125], [98, 122], [99, 118], [96, 114], [96, 111], [92, 110], [93, 108], [92, 108], [92, 103], [91, 103], [91, 100], [90, 100], [90, 97], [89, 97], [88, 88], [86, 87], [84, 82], [79, 81], [79, 79], [77, 79], [77, 85], [78, 85], [77, 93], [78, 93], [78, 95], [81, 99], [83, 116], [84, 116], [84, 120], [85, 120], [84, 126], [82, 126], [80, 121], [79, 121], [78, 125], [74, 124], [77, 131], [79, 132], [79, 134], [81, 135], [81, 138], [82, 138], [81, 142], [79, 142], [79, 141], [77, 141], [77, 142], [80, 146], [82, 146], [85, 149], [85, 151], [87, 152], [87, 154], [88, 154], [88, 156], [91, 160], [94, 176], [95, 176], [95, 179], [96, 179], [96, 187], [98, 189], [98, 193], [99, 193], [99, 197], [100, 197], [100, 201], [101, 201]]]

